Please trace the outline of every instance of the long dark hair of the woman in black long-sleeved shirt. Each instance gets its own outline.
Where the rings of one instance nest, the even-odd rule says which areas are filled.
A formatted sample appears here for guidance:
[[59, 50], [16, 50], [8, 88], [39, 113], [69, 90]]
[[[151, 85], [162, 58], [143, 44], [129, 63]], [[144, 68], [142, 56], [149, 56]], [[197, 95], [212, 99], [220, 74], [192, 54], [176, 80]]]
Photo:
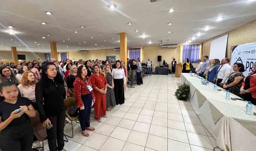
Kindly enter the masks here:
[[[54, 64], [54, 63], [51, 63], [51, 62], [42, 64], [42, 79], [41, 79], [41, 81], [42, 81], [43, 83], [45, 83], [46, 80], [49, 79], [48, 76], [47, 76], [47, 74], [46, 74], [46, 72], [47, 72], [47, 69], [49, 68], [50, 65], [55, 66], [55, 64]], [[56, 66], [55, 66], [55, 67], [56, 67]], [[58, 70], [57, 67], [56, 67], [56, 69]], [[59, 73], [58, 71], [57, 71], [57, 75], [54, 77], [53, 80], [54, 80], [55, 82], [57, 82], [57, 83], [61, 83], [61, 84], [64, 83], [64, 81], [63, 81], [63, 79], [62, 79], [62, 77], [61, 77], [61, 75], [60, 75], [60, 73]], [[40, 81], [40, 82], [41, 82], [41, 81]]]

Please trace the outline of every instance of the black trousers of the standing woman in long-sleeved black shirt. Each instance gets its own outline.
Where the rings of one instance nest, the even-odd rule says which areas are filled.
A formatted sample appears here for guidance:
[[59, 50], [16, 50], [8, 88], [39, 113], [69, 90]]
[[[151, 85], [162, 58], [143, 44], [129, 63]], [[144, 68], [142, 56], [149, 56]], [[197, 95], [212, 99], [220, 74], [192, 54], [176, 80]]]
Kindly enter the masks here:
[[[50, 151], [62, 150], [64, 147], [64, 122], [65, 122], [65, 111], [58, 113], [56, 116], [49, 116], [52, 128], [47, 129], [48, 145]], [[56, 144], [57, 137], [57, 144]]]

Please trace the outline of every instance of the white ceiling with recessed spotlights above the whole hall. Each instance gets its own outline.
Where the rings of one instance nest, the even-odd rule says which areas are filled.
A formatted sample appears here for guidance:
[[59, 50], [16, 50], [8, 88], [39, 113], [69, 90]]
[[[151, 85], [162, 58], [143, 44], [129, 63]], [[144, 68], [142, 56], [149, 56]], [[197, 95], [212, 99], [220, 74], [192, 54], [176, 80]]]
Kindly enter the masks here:
[[[117, 5], [117, 10], [110, 10], [109, 3]], [[0, 24], [0, 50], [16, 46], [18, 51], [42, 53], [50, 52], [49, 41], [58, 42], [58, 52], [119, 47], [121, 32], [127, 33], [128, 47], [156, 46], [159, 40], [164, 44], [185, 43], [193, 36], [196, 39], [192, 43], [200, 43], [256, 19], [256, 1], [253, 0], [162, 0], [154, 3], [150, 0], [0, 0], [0, 4], [0, 23], [5, 27], [14, 26], [15, 35], [30, 48], [24, 48], [24, 44]], [[170, 8], [175, 11], [169, 13]], [[216, 21], [219, 16], [224, 20]], [[169, 22], [173, 24], [167, 25]], [[85, 28], [80, 28], [81, 25]], [[211, 29], [204, 31], [207, 25]], [[168, 34], [168, 31], [174, 33]], [[202, 33], [200, 37], [197, 37], [198, 32]], [[143, 33], [148, 37], [141, 38]], [[152, 44], [146, 40], [151, 40]]]

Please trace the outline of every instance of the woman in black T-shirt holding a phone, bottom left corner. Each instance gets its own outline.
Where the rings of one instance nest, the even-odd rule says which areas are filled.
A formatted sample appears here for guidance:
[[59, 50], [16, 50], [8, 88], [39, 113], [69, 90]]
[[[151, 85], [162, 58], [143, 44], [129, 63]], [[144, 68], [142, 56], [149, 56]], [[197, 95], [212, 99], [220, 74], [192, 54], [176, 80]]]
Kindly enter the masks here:
[[[0, 149], [3, 151], [32, 150], [34, 131], [29, 117], [35, 117], [36, 112], [31, 101], [18, 93], [15, 82], [0, 83]], [[15, 112], [17, 109], [21, 111]]]

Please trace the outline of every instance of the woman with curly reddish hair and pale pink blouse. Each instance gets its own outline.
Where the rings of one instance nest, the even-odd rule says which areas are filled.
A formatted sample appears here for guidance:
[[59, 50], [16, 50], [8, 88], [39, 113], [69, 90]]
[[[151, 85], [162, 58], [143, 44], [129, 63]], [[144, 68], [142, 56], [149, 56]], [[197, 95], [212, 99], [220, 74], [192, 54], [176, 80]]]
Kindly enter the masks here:
[[[35, 108], [35, 73], [32, 71], [25, 71], [22, 75], [20, 85], [18, 85], [19, 92], [22, 97], [28, 98], [32, 101], [32, 106]], [[36, 108], [35, 108], [36, 109]]]

